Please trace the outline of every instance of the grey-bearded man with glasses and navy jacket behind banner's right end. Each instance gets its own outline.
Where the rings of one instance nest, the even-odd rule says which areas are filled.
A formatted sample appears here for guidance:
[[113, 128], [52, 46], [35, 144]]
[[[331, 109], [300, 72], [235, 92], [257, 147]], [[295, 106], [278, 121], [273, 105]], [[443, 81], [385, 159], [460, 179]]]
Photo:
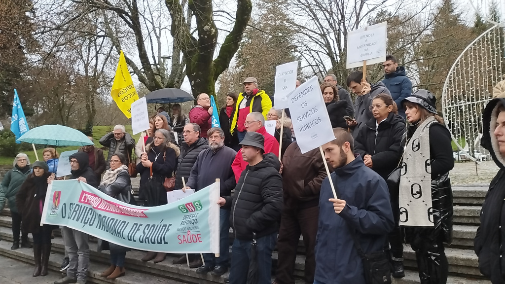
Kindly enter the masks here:
[[[219, 127], [209, 129], [207, 138], [209, 139], [210, 148], [198, 154], [183, 191], [189, 188], [199, 191], [201, 188], [214, 183], [216, 178], [219, 178], [221, 181], [221, 197], [231, 196], [231, 190], [236, 185], [231, 163], [233, 163], [237, 152], [224, 146], [224, 132]], [[205, 266], [198, 268], [196, 273], [206, 274], [212, 271], [213, 275], [221, 276], [228, 270], [230, 210], [220, 208], [219, 214], [219, 257], [216, 258], [213, 254], [204, 254]]]

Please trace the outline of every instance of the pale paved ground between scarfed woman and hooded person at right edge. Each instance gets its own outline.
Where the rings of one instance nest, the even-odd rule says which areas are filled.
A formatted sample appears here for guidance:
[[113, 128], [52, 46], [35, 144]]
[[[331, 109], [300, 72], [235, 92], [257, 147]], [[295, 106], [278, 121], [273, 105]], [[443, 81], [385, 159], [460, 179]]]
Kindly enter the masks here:
[[498, 172], [498, 166], [493, 161], [456, 162], [450, 171], [452, 185], [489, 185], [489, 182]]

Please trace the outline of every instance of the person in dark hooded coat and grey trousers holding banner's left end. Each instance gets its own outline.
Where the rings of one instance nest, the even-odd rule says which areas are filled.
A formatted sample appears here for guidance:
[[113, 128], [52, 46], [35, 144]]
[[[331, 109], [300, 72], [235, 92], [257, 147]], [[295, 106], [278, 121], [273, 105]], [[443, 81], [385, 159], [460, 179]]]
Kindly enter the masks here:
[[[77, 152], [70, 156], [69, 159], [71, 168], [70, 179], [77, 179], [93, 187], [98, 187], [98, 178], [89, 167], [88, 154]], [[51, 182], [53, 179], [54, 175], [51, 175], [48, 181]], [[67, 276], [56, 280], [55, 284], [85, 283], [89, 267], [89, 235], [65, 226], [61, 228], [61, 231], [70, 264], [67, 269]]]

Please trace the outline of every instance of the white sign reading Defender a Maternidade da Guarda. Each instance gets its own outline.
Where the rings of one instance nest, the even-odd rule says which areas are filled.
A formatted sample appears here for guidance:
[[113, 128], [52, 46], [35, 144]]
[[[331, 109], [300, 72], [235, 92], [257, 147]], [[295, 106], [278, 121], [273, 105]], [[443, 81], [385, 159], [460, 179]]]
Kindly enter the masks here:
[[368, 26], [347, 34], [346, 68], [382, 63], [386, 61], [387, 22]]

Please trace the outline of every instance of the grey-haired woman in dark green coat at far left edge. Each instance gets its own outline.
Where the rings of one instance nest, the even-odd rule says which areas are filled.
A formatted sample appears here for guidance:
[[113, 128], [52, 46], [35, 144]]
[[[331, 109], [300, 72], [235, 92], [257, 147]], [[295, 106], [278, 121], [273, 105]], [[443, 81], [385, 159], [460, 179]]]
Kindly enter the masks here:
[[[19, 192], [21, 184], [26, 180], [28, 174], [30, 174], [30, 159], [25, 153], [19, 153], [14, 158], [13, 169], [8, 171], [4, 179], [2, 179], [2, 188], [5, 193], [5, 197], [9, 202], [9, 208], [11, 209], [12, 217], [12, 234], [14, 242], [12, 244], [11, 250], [19, 249], [19, 232], [21, 231], [21, 214], [18, 212], [18, 207], [16, 206], [16, 194]], [[31, 248], [28, 244], [28, 233], [21, 233], [21, 247]]]

